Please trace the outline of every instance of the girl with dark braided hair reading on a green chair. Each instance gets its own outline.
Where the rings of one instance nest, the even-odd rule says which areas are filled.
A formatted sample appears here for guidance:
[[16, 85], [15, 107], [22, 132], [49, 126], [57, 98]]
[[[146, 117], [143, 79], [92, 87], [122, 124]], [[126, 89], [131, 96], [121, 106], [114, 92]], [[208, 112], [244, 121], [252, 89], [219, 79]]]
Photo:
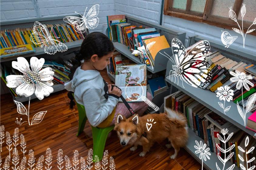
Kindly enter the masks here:
[[[88, 121], [94, 127], [113, 125], [118, 113], [126, 118], [131, 116], [124, 103], [118, 103], [121, 90], [116, 87], [111, 90], [111, 85], [105, 82], [98, 71], [110, 64], [113, 51], [114, 45], [105, 34], [88, 34], [81, 45], [80, 53], [76, 54], [75, 60], [72, 61], [70, 81], [65, 83], [65, 89], [70, 91], [70, 107], [73, 108], [74, 105], [74, 92], [76, 102], [84, 105]], [[84, 60], [83, 64], [81, 60]], [[150, 93], [147, 93], [147, 98], [152, 100]], [[145, 102], [129, 105], [138, 115], [142, 115], [148, 107]]]

